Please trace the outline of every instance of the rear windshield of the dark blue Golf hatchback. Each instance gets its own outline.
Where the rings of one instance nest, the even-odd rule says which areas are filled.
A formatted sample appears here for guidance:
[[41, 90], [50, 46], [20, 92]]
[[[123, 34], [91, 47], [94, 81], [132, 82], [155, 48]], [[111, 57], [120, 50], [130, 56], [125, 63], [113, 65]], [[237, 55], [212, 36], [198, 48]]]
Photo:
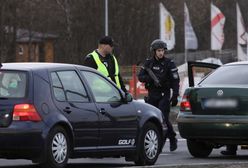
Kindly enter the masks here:
[[26, 93], [25, 72], [0, 71], [0, 98], [23, 98]]

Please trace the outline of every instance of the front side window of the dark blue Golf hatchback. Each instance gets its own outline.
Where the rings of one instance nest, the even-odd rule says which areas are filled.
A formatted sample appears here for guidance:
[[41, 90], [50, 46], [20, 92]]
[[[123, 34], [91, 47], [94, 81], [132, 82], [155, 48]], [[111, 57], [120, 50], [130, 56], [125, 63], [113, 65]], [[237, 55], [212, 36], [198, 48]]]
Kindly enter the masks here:
[[116, 87], [102, 76], [88, 71], [81, 71], [85, 76], [96, 102], [120, 102], [121, 95]]

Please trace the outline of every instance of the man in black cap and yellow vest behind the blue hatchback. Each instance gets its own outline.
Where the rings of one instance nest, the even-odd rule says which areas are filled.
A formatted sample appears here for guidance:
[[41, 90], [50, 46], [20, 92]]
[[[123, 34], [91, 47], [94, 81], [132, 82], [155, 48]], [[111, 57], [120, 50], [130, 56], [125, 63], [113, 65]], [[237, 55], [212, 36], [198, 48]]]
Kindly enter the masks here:
[[118, 62], [113, 55], [114, 40], [110, 36], [104, 36], [99, 40], [98, 49], [89, 53], [84, 59], [84, 65], [97, 69], [110, 78], [124, 92], [127, 92], [120, 76]]

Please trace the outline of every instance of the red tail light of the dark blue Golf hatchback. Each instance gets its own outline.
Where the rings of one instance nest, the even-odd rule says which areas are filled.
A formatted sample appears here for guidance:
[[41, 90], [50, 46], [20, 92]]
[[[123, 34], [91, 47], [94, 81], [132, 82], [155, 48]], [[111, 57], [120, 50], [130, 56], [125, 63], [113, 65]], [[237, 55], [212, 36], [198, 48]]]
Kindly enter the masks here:
[[41, 117], [32, 104], [17, 104], [14, 107], [13, 120], [41, 121]]

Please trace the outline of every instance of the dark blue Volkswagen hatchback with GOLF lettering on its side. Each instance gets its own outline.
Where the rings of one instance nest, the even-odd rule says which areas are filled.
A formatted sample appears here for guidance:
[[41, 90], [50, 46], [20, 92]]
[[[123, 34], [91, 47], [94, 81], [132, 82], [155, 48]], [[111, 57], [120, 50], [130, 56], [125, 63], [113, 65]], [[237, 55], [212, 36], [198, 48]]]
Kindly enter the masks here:
[[68, 158], [125, 157], [152, 165], [166, 125], [96, 70], [72, 64], [0, 68], [0, 157], [65, 167]]

